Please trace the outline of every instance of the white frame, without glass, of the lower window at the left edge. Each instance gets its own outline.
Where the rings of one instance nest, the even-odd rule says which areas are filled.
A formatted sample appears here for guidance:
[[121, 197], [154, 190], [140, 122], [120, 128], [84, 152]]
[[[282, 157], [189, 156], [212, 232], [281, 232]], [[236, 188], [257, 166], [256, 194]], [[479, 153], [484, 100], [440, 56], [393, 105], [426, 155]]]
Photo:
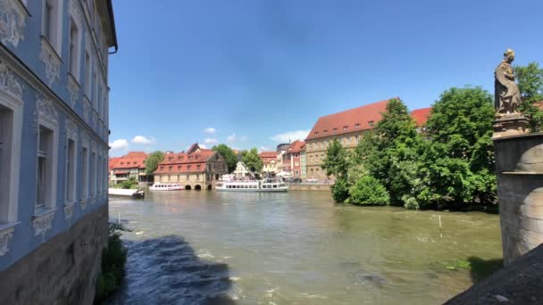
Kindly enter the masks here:
[[[2, 169], [0, 173], [0, 192], [5, 191], [7, 200], [5, 207], [2, 207], [0, 213], [0, 231], [7, 227], [17, 225], [17, 210], [19, 205], [19, 176], [21, 172], [21, 130], [22, 130], [22, 112], [23, 102], [15, 98], [4, 90], [0, 90], [0, 104], [11, 111], [12, 129], [9, 144], [4, 144], [4, 150], [9, 152], [9, 169]], [[4, 179], [5, 177], [5, 179]], [[3, 185], [4, 183], [4, 185]]]

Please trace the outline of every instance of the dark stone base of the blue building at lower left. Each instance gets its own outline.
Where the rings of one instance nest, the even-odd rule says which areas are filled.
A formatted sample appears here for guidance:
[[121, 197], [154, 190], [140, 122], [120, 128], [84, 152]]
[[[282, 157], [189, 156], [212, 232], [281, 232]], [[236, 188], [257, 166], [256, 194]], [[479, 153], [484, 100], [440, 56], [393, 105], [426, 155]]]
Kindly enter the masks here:
[[0, 304], [92, 304], [107, 238], [104, 204], [0, 272]]

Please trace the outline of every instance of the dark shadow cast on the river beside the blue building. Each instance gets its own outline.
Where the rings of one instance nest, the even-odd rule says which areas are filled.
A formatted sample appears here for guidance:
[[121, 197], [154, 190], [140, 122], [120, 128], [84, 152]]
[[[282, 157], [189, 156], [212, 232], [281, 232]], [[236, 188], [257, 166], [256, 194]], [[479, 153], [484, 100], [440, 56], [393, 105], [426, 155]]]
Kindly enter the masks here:
[[180, 236], [143, 242], [129, 249], [121, 290], [106, 304], [235, 304], [227, 264], [200, 260]]

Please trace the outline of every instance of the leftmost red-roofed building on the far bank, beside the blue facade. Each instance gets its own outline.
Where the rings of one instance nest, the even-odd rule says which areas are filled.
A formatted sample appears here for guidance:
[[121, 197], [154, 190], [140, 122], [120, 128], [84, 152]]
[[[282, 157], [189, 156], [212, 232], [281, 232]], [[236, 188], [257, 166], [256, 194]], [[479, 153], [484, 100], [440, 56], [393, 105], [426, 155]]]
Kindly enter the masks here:
[[147, 154], [145, 152], [129, 152], [122, 157], [110, 159], [110, 185], [118, 185], [130, 178], [138, 183], [146, 183], [150, 177], [146, 175]]

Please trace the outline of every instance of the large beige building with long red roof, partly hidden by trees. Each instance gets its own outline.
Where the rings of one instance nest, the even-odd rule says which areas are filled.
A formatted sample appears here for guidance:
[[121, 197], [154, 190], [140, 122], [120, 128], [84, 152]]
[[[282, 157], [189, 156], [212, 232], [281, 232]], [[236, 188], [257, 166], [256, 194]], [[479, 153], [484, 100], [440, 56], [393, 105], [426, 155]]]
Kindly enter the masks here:
[[[330, 142], [338, 139], [343, 147], [354, 149], [363, 133], [375, 128], [382, 119], [381, 113], [387, 110], [388, 101], [369, 103], [319, 118], [305, 138], [307, 177], [327, 179], [321, 166]], [[430, 108], [424, 108], [413, 111], [411, 115], [417, 126], [423, 128], [429, 113]]]

